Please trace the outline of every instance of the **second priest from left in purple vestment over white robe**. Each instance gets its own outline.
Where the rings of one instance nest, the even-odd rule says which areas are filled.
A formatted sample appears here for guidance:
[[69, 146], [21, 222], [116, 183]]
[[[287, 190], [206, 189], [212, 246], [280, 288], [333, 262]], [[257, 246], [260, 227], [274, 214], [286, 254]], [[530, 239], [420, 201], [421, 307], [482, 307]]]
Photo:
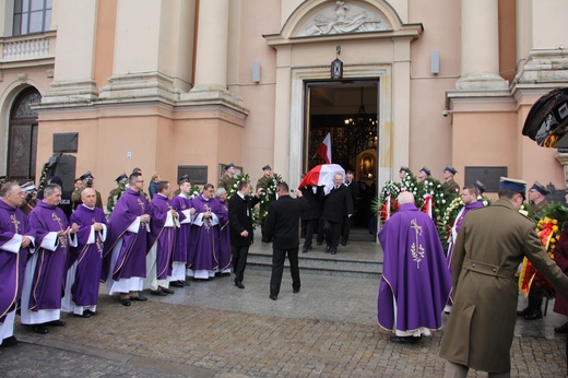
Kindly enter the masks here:
[[67, 216], [57, 205], [61, 187], [49, 184], [44, 199], [29, 213], [29, 226], [36, 233], [36, 251], [27, 261], [22, 288], [22, 324], [34, 326], [45, 334], [47, 326], [63, 327], [60, 320], [61, 298], [64, 295], [69, 247], [76, 247], [79, 225], [69, 226]]

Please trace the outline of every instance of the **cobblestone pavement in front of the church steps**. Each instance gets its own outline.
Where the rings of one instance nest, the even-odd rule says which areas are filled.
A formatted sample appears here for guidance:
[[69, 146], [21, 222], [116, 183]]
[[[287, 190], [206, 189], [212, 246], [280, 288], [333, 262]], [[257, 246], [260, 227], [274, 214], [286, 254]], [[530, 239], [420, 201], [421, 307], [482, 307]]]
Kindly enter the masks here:
[[[270, 272], [249, 269], [245, 290], [232, 277], [191, 282], [174, 295], [120, 305], [102, 295], [98, 315], [63, 315], [46, 335], [20, 324], [17, 346], [0, 349], [3, 377], [440, 377], [442, 331], [416, 345], [389, 341], [376, 321], [376, 280], [301, 275], [292, 293], [285, 272], [277, 300]], [[147, 293], [146, 293], [147, 294]], [[522, 307], [522, 303], [519, 305]], [[552, 312], [519, 320], [512, 376], [561, 377], [564, 336]], [[446, 316], [445, 316], [446, 317]], [[16, 322], [19, 318], [16, 317]], [[484, 374], [470, 373], [470, 377]]]

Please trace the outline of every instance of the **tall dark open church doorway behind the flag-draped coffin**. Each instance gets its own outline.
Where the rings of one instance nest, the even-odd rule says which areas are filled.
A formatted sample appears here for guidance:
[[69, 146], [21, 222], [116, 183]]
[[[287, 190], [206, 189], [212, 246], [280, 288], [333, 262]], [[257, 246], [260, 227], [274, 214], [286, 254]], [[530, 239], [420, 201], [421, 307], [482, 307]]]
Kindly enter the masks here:
[[[306, 82], [304, 170], [323, 164], [316, 151], [329, 133], [331, 162], [352, 170], [359, 186], [350, 239], [369, 239], [370, 202], [377, 196], [379, 81]], [[371, 235], [372, 236], [372, 235]], [[370, 238], [374, 240], [374, 238]]]

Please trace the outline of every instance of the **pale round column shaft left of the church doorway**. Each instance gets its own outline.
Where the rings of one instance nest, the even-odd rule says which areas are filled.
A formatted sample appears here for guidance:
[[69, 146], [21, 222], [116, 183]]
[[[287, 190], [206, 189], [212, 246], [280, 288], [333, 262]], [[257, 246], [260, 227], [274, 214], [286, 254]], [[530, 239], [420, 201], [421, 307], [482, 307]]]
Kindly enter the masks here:
[[228, 1], [199, 2], [193, 92], [227, 92]]

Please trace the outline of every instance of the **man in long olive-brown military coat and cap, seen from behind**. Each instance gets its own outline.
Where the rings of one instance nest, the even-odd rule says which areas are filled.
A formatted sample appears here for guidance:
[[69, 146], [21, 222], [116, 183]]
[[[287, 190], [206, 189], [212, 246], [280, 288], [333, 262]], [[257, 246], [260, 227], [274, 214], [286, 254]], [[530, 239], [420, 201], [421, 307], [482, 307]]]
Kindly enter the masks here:
[[523, 257], [568, 298], [568, 276], [548, 257], [534, 223], [519, 213], [526, 182], [501, 177], [499, 200], [463, 220], [452, 257], [454, 302], [441, 342], [445, 377], [470, 368], [510, 377], [517, 309], [514, 274]]

